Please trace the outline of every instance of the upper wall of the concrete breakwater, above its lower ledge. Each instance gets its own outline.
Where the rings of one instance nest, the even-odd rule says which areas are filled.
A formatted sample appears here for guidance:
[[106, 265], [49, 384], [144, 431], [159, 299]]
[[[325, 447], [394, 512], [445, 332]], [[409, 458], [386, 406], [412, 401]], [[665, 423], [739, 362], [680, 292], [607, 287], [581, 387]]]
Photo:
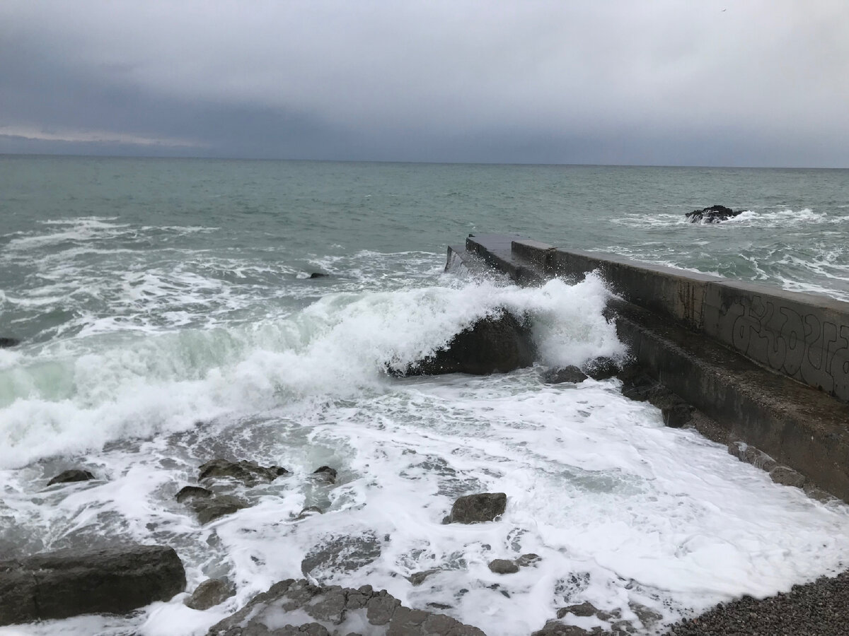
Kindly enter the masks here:
[[520, 284], [597, 272], [610, 291], [757, 364], [849, 402], [849, 303], [818, 293], [555, 248], [510, 234], [469, 235], [466, 250]]

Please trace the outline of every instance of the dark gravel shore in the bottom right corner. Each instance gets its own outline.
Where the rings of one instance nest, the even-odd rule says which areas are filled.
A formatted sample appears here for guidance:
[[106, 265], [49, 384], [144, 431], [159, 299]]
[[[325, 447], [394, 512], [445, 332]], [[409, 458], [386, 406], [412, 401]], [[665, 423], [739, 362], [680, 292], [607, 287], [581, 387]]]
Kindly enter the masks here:
[[666, 636], [846, 636], [849, 572], [794, 585], [786, 594], [717, 605], [672, 625]]

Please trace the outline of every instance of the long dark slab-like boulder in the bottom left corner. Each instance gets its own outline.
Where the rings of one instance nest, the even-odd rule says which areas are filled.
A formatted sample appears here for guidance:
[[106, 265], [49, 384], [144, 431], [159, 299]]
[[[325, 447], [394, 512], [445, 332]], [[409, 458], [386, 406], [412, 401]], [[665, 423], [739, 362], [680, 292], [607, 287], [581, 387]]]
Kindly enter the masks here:
[[57, 550], [0, 561], [0, 625], [121, 614], [185, 588], [183, 563], [161, 545]]

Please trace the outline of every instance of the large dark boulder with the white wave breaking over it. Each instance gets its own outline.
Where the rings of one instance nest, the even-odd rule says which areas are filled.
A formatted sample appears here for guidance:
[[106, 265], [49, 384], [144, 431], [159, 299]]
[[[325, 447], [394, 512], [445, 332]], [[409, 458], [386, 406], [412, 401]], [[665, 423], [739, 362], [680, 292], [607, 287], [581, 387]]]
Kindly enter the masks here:
[[530, 330], [509, 311], [503, 311], [459, 332], [445, 349], [410, 365], [404, 373], [410, 376], [506, 373], [531, 366], [533, 359]]

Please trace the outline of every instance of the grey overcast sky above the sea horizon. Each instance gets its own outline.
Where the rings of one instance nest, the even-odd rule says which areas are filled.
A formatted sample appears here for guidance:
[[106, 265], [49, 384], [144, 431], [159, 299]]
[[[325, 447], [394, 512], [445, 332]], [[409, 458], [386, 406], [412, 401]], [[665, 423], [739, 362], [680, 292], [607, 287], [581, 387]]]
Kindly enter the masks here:
[[0, 153], [849, 167], [849, 2], [2, 0]]

